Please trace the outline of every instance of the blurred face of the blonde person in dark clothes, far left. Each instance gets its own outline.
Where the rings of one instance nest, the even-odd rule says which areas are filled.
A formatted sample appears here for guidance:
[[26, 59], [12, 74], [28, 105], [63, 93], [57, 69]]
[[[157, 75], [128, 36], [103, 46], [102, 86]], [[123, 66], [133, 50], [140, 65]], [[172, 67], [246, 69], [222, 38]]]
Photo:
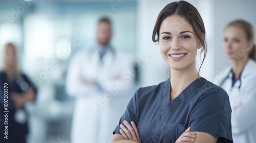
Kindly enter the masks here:
[[16, 52], [14, 50], [14, 47], [12, 47], [11, 45], [7, 45], [6, 47], [5, 62], [9, 66], [16, 64]]

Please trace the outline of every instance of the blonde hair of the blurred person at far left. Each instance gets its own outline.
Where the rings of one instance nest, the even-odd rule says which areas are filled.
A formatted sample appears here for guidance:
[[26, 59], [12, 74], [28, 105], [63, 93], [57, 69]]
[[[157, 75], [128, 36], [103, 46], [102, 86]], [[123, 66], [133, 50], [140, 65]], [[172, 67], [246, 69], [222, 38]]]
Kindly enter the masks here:
[[[17, 49], [16, 49], [16, 46], [13, 44], [13, 43], [6, 43], [5, 46], [4, 46], [4, 67], [3, 67], [3, 70], [6, 72], [7, 76], [10, 78], [10, 79], [13, 79], [15, 76], [17, 75], [20, 75], [20, 70], [19, 70], [19, 65], [18, 65], [18, 56], [17, 56]], [[6, 61], [6, 54], [7, 54], [7, 51], [12, 49], [13, 52], [14, 52], [14, 56], [15, 56], [15, 64], [13, 67], [10, 67], [8, 64], [7, 64], [7, 61]]]

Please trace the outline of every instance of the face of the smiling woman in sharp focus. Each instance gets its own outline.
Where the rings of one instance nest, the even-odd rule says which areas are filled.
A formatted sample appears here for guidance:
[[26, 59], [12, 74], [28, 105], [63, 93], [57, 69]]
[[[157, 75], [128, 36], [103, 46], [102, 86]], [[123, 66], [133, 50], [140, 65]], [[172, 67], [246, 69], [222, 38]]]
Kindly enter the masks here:
[[166, 17], [161, 23], [159, 34], [161, 55], [170, 68], [180, 70], [194, 66], [201, 44], [185, 18], [179, 15]]

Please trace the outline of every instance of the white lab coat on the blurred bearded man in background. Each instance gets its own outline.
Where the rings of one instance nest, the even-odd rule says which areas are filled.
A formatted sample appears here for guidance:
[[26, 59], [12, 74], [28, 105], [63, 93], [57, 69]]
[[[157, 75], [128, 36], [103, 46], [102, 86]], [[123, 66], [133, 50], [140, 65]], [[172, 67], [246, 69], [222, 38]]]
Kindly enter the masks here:
[[[97, 49], [79, 52], [70, 62], [66, 89], [76, 98], [72, 143], [109, 142], [133, 96], [133, 58], [126, 52], [113, 51], [105, 53], [103, 63]], [[82, 79], [97, 80], [103, 91]]]

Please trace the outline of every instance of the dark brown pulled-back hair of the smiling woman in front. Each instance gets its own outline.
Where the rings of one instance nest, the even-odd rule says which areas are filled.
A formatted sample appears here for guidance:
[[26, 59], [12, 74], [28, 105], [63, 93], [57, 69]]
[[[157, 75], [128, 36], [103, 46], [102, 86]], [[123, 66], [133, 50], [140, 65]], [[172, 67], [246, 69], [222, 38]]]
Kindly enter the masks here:
[[[197, 38], [202, 44], [201, 53], [204, 52], [204, 58], [200, 65], [199, 71], [202, 67], [204, 59], [207, 53], [207, 44], [205, 41], [205, 28], [204, 22], [199, 14], [198, 10], [186, 1], [173, 2], [166, 5], [157, 17], [157, 21], [153, 30], [152, 40], [153, 42], [159, 41], [159, 30], [162, 21], [171, 15], [180, 15], [186, 19], [187, 22], [194, 28]], [[198, 72], [199, 73], [199, 72]]]

